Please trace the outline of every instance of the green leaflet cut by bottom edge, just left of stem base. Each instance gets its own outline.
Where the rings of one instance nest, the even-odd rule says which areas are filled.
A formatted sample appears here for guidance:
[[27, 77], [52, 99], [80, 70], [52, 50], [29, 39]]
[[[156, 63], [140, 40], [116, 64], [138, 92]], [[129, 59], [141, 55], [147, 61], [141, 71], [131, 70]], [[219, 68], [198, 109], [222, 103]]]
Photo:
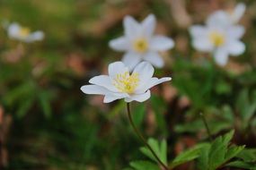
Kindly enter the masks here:
[[160, 168], [152, 162], [143, 160], [133, 161], [129, 165], [136, 170], [160, 170]]

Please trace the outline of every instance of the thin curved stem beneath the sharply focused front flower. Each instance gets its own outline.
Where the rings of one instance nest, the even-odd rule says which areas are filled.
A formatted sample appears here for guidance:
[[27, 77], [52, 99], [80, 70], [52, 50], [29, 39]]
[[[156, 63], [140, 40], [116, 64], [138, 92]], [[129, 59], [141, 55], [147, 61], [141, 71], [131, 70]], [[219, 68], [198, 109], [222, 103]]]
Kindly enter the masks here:
[[132, 120], [132, 116], [130, 114], [130, 107], [129, 107], [129, 103], [127, 103], [127, 110], [128, 110], [128, 119], [129, 119], [129, 123], [131, 124], [131, 126], [133, 127], [134, 131], [137, 133], [137, 136], [140, 138], [140, 140], [143, 141], [143, 143], [146, 145], [146, 147], [151, 151], [151, 153], [154, 155], [154, 157], [156, 158], [157, 162], [163, 166], [164, 170], [169, 170], [168, 166], [165, 166], [165, 164], [163, 164], [163, 162], [160, 160], [159, 157], [157, 157], [157, 155], [155, 154], [154, 150], [150, 147], [150, 145], [146, 142], [145, 138], [143, 137], [143, 135], [141, 134], [141, 132], [138, 131], [135, 123]]

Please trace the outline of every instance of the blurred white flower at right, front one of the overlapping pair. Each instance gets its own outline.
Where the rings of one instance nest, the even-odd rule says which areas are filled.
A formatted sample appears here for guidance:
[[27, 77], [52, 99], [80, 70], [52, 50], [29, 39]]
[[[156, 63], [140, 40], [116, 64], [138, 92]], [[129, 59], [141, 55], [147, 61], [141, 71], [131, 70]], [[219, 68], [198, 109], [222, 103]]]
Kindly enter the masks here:
[[245, 45], [240, 40], [244, 34], [243, 26], [232, 25], [221, 27], [216, 23], [214, 26], [192, 26], [190, 28], [192, 46], [202, 52], [209, 52], [214, 56], [216, 64], [225, 65], [228, 55], [242, 55]]

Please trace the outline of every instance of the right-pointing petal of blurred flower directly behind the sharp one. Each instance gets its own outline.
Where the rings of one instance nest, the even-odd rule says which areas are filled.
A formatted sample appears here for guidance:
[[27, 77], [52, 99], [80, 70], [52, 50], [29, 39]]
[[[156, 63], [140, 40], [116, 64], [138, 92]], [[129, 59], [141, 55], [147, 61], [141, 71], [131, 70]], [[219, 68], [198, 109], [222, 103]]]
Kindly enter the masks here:
[[174, 47], [172, 38], [164, 36], [154, 36], [150, 40], [150, 48], [155, 51], [165, 51]]

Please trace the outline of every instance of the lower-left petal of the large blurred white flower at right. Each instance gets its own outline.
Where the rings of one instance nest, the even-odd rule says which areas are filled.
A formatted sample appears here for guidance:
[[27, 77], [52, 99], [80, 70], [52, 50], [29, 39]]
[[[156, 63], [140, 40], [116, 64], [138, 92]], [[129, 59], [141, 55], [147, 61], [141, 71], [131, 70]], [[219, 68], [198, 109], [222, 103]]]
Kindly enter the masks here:
[[208, 38], [194, 38], [192, 40], [192, 46], [202, 52], [210, 52], [214, 49], [213, 44]]

